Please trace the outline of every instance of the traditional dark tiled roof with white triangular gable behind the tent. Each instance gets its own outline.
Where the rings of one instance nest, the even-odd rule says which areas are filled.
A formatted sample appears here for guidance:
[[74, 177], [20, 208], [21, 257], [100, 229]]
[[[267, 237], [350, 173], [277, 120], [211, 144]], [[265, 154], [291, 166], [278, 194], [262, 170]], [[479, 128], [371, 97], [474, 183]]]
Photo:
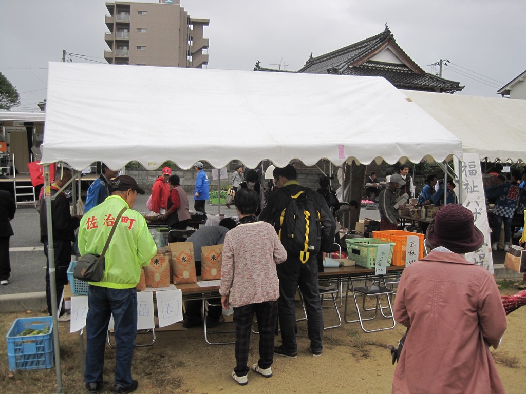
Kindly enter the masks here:
[[[255, 71], [280, 71], [259, 67]], [[434, 92], [460, 91], [460, 82], [440, 78], [424, 71], [396, 43], [386, 24], [385, 30], [357, 43], [312, 57], [297, 72], [383, 77], [401, 89]]]

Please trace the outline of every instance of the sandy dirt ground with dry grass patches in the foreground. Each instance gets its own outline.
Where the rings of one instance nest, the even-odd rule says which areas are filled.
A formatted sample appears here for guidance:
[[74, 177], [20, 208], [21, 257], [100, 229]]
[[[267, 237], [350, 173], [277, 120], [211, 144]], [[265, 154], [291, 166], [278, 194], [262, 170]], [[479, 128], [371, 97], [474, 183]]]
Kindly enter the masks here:
[[[517, 292], [502, 286], [503, 295]], [[323, 309], [326, 324], [335, 322], [335, 311]], [[340, 307], [343, 316], [343, 307]], [[55, 393], [55, 368], [9, 372], [5, 336], [15, 318], [38, 313], [4, 314], [0, 320], [0, 391], [2, 393]], [[526, 307], [508, 315], [508, 329], [493, 358], [508, 393], [524, 392]], [[386, 320], [380, 320], [385, 325]], [[231, 324], [225, 324], [228, 328]], [[224, 326], [221, 326], [224, 327]], [[396, 345], [405, 329], [366, 334], [358, 323], [324, 331], [321, 357], [312, 357], [306, 337], [306, 323], [298, 323], [298, 358], [276, 356], [274, 376], [264, 378], [249, 372], [248, 385], [238, 386], [231, 377], [235, 366], [234, 345], [210, 346], [202, 328], [157, 333], [153, 346], [135, 351], [133, 374], [139, 381], [137, 393], [389, 393], [395, 366], [387, 346]], [[85, 393], [79, 368], [78, 334], [69, 334], [69, 324], [59, 323], [65, 393]], [[231, 335], [231, 334], [230, 334]], [[138, 343], [146, 336], [138, 336]], [[148, 336], [148, 338], [150, 338]], [[258, 360], [258, 336], [252, 335], [249, 364]], [[279, 344], [280, 337], [276, 337]], [[114, 349], [106, 347], [104, 393], [112, 392]]]

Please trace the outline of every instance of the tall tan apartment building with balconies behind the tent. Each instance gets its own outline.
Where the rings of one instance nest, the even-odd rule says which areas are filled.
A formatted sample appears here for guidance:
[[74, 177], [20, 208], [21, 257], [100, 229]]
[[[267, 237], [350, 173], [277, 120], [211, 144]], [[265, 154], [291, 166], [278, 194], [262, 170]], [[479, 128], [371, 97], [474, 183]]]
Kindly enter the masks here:
[[109, 64], [203, 68], [208, 64], [208, 19], [193, 19], [179, 0], [106, 3]]

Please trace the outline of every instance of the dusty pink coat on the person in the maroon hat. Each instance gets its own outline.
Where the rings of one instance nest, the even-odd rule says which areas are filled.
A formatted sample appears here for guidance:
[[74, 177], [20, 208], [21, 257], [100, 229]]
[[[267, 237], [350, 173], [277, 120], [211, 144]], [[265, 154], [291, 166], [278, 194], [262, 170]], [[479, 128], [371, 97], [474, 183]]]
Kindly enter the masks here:
[[410, 327], [392, 393], [504, 393], [488, 344], [506, 316], [493, 276], [463, 256], [431, 252], [404, 269], [397, 322]]

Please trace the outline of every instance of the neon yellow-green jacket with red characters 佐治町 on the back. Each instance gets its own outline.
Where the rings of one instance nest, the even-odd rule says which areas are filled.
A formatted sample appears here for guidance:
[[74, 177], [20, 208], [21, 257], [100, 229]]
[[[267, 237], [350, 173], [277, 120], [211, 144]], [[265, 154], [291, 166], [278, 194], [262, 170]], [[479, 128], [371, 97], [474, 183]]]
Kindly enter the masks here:
[[[115, 223], [124, 207], [128, 209], [119, 223]], [[135, 287], [139, 283], [140, 267], [150, 263], [157, 247], [144, 217], [129, 209], [120, 196], [109, 196], [83, 216], [78, 230], [78, 249], [81, 255], [100, 255], [114, 224], [118, 227], [106, 251], [104, 276], [100, 282], [89, 284], [110, 288]]]

